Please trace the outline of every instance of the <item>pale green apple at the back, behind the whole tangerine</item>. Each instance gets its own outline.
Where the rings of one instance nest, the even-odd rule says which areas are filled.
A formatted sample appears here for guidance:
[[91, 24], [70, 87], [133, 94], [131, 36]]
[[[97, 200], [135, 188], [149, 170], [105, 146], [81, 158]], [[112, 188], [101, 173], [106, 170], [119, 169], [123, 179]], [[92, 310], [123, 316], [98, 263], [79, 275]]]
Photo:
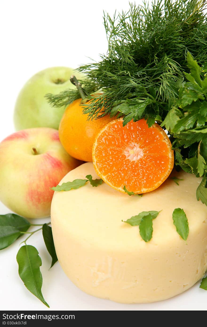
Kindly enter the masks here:
[[78, 79], [83, 78], [82, 74], [67, 67], [47, 68], [31, 77], [20, 91], [15, 104], [16, 130], [32, 127], [58, 129], [65, 107], [52, 107], [45, 95], [47, 93], [58, 94], [69, 88], [76, 89], [76, 86], [70, 82], [73, 74]]

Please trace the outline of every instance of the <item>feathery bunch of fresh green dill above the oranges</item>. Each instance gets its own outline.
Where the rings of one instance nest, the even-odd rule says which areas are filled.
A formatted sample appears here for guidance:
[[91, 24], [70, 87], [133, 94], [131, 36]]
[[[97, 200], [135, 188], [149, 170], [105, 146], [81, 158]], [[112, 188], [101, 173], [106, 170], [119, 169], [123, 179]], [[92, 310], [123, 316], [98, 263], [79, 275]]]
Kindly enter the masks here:
[[[151, 126], [162, 122], [178, 98], [185, 80], [187, 52], [201, 65], [207, 62], [207, 15], [203, 0], [154, 0], [151, 7], [130, 4], [128, 12], [104, 13], [108, 52], [99, 62], [78, 68], [90, 96], [84, 113], [124, 116], [124, 124], [142, 117]], [[56, 107], [79, 98], [77, 91], [46, 95]]]

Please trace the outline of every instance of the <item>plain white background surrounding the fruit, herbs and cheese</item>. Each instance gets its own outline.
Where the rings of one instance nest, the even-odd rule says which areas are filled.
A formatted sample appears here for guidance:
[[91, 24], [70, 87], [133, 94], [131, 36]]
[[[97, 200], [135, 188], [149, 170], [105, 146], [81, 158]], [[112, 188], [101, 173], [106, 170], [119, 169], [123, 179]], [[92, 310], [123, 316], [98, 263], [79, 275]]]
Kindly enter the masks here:
[[[140, 1], [135, 1], [137, 4]], [[4, 1], [0, 8], [0, 141], [14, 131], [13, 108], [26, 82], [38, 71], [52, 66], [76, 68], [106, 53], [103, 9], [111, 14], [128, 9], [128, 0]], [[12, 155], [12, 154], [11, 154]], [[1, 167], [0, 167], [1, 169]], [[0, 214], [9, 210], [0, 202]], [[48, 219], [36, 223], [44, 223]], [[47, 309], [27, 291], [18, 276], [16, 254], [20, 241], [0, 251], [1, 310], [206, 310], [207, 292], [199, 283], [170, 300], [126, 305], [97, 299], [79, 290], [65, 276], [59, 263], [51, 270], [50, 256], [41, 232], [29, 239], [43, 261], [43, 296]]]

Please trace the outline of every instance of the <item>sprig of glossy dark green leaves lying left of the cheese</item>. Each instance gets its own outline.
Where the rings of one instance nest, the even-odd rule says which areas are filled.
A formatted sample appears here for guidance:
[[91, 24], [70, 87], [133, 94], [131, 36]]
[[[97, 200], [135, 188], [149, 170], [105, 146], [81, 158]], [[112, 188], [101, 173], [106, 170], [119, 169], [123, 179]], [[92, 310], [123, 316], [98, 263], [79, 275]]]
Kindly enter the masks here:
[[[41, 291], [43, 284], [43, 277], [40, 271], [42, 260], [38, 250], [26, 242], [34, 233], [42, 230], [45, 246], [52, 257], [52, 267], [58, 261], [58, 258], [55, 252], [52, 229], [48, 226], [49, 224], [50, 222], [47, 224], [30, 224], [28, 220], [15, 214], [0, 215], [0, 250], [7, 248], [20, 236], [28, 234], [27, 238], [22, 242], [24, 245], [19, 249], [16, 256], [19, 265], [19, 276], [26, 288], [48, 308], [49, 305], [44, 300]], [[41, 227], [28, 232], [31, 226]]]

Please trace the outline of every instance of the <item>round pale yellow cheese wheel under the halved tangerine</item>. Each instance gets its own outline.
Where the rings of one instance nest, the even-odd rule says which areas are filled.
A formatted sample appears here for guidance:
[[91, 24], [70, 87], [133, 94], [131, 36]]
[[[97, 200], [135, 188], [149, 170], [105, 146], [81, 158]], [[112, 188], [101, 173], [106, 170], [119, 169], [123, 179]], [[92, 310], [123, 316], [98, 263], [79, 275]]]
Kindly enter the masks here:
[[[59, 183], [98, 178], [92, 163], [70, 171]], [[103, 183], [87, 182], [77, 190], [55, 192], [51, 223], [61, 267], [81, 290], [122, 303], [164, 300], [203, 277], [207, 269], [207, 207], [197, 201], [201, 181], [173, 171], [183, 181], [168, 178], [143, 197], [128, 196]], [[189, 235], [184, 241], [173, 224], [175, 208], [184, 210]], [[153, 234], [145, 242], [139, 226], [122, 220], [142, 211], [161, 211], [153, 219]]]

